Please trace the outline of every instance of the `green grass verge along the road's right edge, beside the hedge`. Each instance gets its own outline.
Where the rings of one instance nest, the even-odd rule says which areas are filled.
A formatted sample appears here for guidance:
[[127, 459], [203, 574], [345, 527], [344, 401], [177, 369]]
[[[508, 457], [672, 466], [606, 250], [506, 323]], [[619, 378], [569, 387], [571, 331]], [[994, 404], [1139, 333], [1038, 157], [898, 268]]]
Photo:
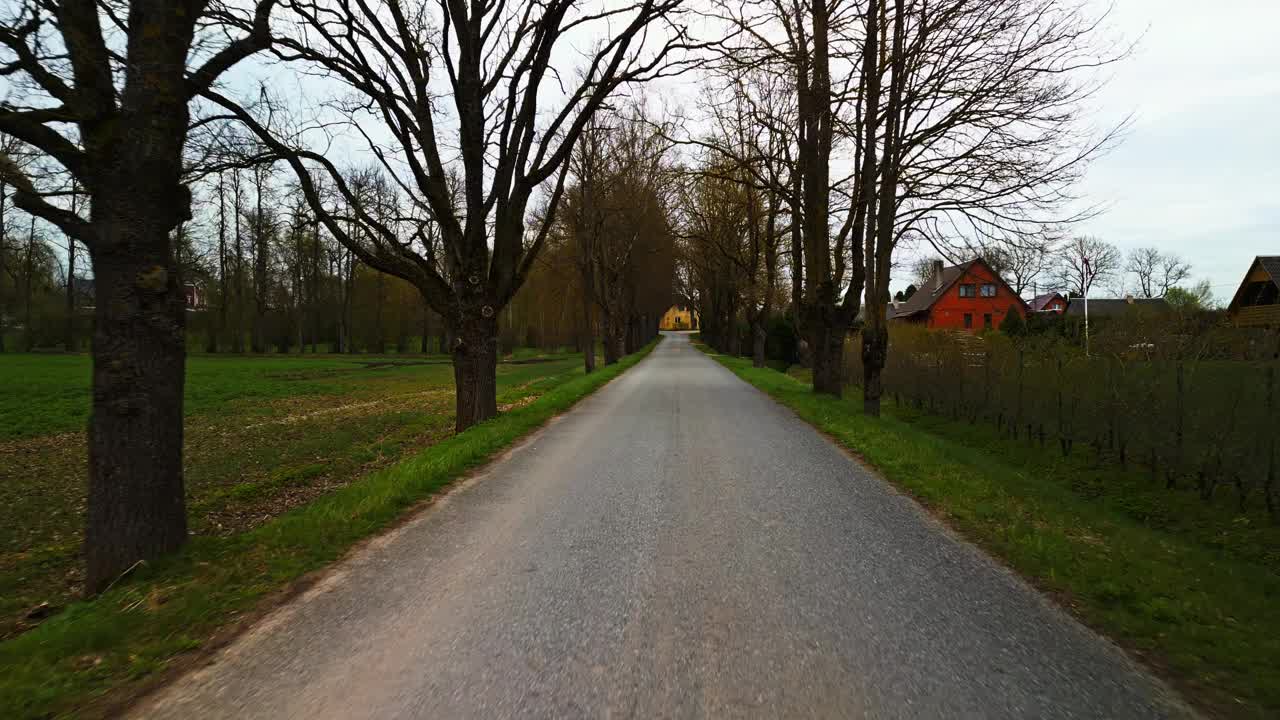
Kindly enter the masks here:
[[714, 357], [1114, 638], [1206, 714], [1280, 715], [1274, 565], [1208, 546], [1176, 525], [1139, 521], [1020, 457], [1030, 450], [1001, 454], [960, 439], [950, 427], [960, 423], [918, 424], [892, 407], [873, 420], [861, 414], [860, 397], [818, 396], [750, 360]]

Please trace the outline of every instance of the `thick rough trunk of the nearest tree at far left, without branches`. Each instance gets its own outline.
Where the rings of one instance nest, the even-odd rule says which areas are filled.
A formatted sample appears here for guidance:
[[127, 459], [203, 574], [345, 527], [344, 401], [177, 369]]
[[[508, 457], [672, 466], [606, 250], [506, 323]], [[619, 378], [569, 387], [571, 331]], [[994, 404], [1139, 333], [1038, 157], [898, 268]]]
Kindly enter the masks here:
[[[131, 188], [145, 197], [143, 188]], [[187, 541], [183, 493], [184, 297], [169, 250], [173, 210], [93, 199], [109, 242], [93, 251], [93, 405], [90, 418], [86, 591]], [[114, 213], [115, 208], [120, 210]]]

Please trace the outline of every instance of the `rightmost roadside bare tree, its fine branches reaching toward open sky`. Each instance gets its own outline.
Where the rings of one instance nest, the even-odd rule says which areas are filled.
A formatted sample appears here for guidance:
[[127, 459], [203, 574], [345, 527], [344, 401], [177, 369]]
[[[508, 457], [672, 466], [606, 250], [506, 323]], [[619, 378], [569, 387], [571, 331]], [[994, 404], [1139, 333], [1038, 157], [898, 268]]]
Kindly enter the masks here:
[[[1083, 5], [1059, 0], [883, 0], [879, 12], [873, 31], [868, 10], [865, 45], [882, 60], [863, 72], [886, 76], [888, 91], [861, 106], [860, 120], [883, 115], [881, 135], [863, 133], [860, 149], [878, 170], [874, 187], [868, 170], [860, 190], [874, 192], [877, 223], [864, 241], [869, 415], [879, 411], [883, 300], [900, 240], [924, 237], [954, 255], [973, 238], [1020, 245], [1089, 217], [1069, 210], [1070, 190], [1119, 128], [1091, 135], [1078, 117], [1098, 87], [1093, 69], [1124, 55], [1097, 44], [1098, 20]], [[867, 81], [864, 96], [881, 83]]]

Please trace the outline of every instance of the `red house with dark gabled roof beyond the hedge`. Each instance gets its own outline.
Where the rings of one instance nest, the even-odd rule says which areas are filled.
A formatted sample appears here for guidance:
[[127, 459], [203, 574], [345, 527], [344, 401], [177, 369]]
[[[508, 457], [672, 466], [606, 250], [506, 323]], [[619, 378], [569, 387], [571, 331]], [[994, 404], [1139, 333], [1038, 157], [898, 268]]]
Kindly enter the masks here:
[[920, 323], [936, 329], [979, 332], [998, 328], [1009, 313], [1027, 316], [1027, 301], [982, 258], [933, 273], [920, 290], [890, 313], [891, 320]]

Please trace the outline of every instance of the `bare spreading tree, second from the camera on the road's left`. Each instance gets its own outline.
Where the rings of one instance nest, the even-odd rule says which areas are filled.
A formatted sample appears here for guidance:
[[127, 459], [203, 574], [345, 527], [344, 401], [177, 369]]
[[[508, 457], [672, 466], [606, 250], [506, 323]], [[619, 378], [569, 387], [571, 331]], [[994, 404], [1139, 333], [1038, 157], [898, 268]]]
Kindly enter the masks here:
[[[389, 227], [356, 202], [349, 204], [351, 220], [362, 232], [353, 233], [315, 191], [315, 178], [324, 177], [339, 196], [351, 192], [324, 152], [221, 94], [206, 96], [287, 160], [334, 237], [362, 263], [413, 283], [447, 318], [454, 337], [457, 428], [492, 418], [498, 314], [545, 241], [570, 150], [620, 87], [681, 69], [672, 60], [690, 45], [681, 0], [599, 10], [572, 0], [284, 5], [292, 27], [276, 41], [280, 59], [343, 83], [355, 97], [342, 108], [351, 127], [364, 133], [366, 123], [379, 123], [393, 138], [384, 147], [374, 133], [364, 135], [406, 200], [439, 227], [440, 266], [410, 241], [416, 231]], [[553, 55], [573, 50], [571, 35], [605, 27], [608, 40], [586, 54], [577, 82], [554, 73]], [[557, 81], [558, 91], [552, 87]], [[558, 102], [544, 105], [548, 100]], [[452, 173], [461, 179], [458, 196], [449, 192]], [[549, 195], [552, 210], [530, 223], [526, 210], [536, 192]]]

